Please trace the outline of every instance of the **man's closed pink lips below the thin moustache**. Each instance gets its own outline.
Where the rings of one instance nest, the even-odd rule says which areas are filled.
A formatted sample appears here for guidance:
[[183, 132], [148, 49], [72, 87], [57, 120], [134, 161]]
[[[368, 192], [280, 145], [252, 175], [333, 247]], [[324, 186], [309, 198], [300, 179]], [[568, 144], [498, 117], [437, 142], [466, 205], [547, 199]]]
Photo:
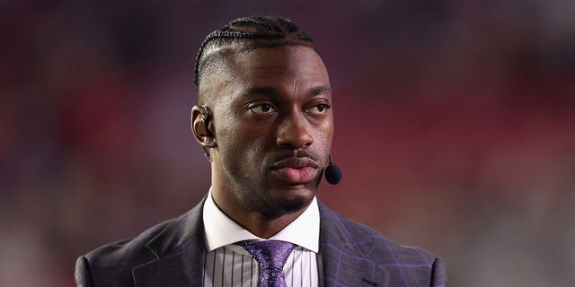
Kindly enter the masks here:
[[317, 176], [319, 165], [306, 157], [290, 157], [276, 161], [271, 168], [271, 175], [291, 184], [304, 184], [313, 181]]

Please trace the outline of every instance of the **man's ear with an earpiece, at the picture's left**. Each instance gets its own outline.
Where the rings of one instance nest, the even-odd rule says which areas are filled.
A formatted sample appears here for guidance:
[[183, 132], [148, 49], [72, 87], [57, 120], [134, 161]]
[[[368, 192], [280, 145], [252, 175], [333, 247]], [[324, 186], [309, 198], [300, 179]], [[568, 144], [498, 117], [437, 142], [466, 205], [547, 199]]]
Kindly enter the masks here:
[[205, 106], [193, 106], [191, 108], [190, 124], [191, 132], [199, 144], [207, 149], [217, 147], [213, 117], [208, 108]]

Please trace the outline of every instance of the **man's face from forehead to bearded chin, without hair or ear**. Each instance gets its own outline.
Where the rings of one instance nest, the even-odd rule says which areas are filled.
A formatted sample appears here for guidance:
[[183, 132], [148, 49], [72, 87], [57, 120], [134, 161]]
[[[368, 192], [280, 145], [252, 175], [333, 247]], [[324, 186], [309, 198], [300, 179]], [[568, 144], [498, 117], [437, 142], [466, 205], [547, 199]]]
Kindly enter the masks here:
[[[218, 204], [277, 217], [311, 203], [332, 147], [332, 93], [312, 48], [257, 48], [210, 81]], [[220, 206], [222, 207], [222, 206]]]

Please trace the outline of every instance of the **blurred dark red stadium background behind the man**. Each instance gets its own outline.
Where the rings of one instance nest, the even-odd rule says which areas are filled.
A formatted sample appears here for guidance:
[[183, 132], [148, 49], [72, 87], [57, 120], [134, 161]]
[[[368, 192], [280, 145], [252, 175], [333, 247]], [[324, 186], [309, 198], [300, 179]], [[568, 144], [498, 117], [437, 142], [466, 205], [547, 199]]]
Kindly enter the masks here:
[[250, 14], [314, 36], [340, 185], [319, 198], [444, 257], [451, 286], [575, 282], [575, 4], [3, 1], [0, 285], [72, 286], [75, 258], [209, 187], [193, 61]]

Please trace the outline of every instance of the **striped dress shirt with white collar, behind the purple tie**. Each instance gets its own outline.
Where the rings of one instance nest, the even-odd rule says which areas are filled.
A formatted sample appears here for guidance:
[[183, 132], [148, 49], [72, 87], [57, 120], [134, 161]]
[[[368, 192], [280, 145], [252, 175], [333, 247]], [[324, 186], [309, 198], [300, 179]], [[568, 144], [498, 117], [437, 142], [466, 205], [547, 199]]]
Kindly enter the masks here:
[[[204, 256], [204, 286], [257, 286], [258, 263], [235, 242], [265, 240], [243, 229], [226, 216], [214, 202], [211, 188], [204, 203], [203, 221], [208, 249]], [[320, 213], [317, 201], [270, 239], [296, 244], [284, 265], [288, 286], [320, 286], [319, 251]]]

